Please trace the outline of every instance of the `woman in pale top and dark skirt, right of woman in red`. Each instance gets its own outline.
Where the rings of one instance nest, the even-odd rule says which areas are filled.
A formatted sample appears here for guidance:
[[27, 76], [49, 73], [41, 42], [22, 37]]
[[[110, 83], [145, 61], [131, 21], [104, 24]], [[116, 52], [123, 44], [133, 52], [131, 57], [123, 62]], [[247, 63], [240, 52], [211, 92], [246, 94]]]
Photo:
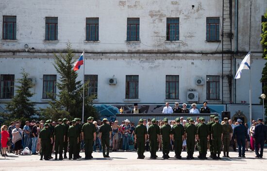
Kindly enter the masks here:
[[19, 128], [19, 124], [16, 124], [16, 128], [12, 130], [12, 135], [13, 135], [12, 142], [15, 144], [14, 145], [15, 155], [20, 155], [20, 149], [23, 148], [21, 145], [22, 134], [23, 134], [23, 131], [21, 128]]

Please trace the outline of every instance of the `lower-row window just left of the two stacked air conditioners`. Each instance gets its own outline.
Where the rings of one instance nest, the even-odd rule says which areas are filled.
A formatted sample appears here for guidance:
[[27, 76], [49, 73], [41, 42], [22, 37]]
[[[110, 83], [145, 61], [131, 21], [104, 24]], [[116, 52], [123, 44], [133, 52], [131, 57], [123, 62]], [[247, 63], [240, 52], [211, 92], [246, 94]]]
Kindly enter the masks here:
[[179, 76], [166, 76], [166, 99], [179, 99]]

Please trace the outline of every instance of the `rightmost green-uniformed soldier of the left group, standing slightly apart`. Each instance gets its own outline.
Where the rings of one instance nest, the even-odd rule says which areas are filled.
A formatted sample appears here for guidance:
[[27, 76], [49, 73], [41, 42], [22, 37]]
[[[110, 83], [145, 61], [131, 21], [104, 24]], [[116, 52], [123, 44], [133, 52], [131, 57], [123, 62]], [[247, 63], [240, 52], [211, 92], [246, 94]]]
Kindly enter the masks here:
[[[103, 124], [100, 126], [99, 132], [100, 132], [100, 140], [102, 144], [102, 151], [103, 151], [103, 157], [109, 157], [109, 140], [111, 140], [111, 132], [112, 128], [110, 124], [107, 124], [108, 119], [104, 118]], [[107, 154], [105, 153], [105, 149], [107, 147]]]

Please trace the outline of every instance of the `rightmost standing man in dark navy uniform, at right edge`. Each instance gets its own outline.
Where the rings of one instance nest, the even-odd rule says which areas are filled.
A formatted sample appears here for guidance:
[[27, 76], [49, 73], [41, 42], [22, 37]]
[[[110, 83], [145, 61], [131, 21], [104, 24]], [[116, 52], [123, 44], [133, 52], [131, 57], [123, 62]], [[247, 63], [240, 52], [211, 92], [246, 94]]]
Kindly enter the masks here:
[[[264, 141], [266, 140], [267, 127], [263, 124], [263, 119], [258, 118], [258, 124], [255, 126], [253, 139], [255, 140], [255, 153], [256, 158], [262, 158]], [[261, 151], [259, 154], [259, 145], [261, 146]]]

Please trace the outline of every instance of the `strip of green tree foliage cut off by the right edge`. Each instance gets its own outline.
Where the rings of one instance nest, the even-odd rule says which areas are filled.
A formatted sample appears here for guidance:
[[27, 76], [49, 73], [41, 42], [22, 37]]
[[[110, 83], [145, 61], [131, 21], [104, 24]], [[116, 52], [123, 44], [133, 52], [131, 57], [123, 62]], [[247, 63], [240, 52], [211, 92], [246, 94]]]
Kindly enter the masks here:
[[[267, 18], [267, 12], [264, 15], [265, 18]], [[262, 57], [267, 60], [267, 22], [263, 22], [262, 23], [262, 31], [263, 33], [261, 34], [262, 40], [261, 40], [261, 44], [263, 46], [263, 55]], [[263, 86], [263, 92], [267, 93], [267, 62], [265, 63], [265, 66], [262, 70], [262, 78], [261, 78], [261, 82], [263, 82], [264, 86]], [[267, 115], [267, 100], [264, 101], [265, 102], [265, 116]], [[266, 121], [266, 120], [265, 120]]]

